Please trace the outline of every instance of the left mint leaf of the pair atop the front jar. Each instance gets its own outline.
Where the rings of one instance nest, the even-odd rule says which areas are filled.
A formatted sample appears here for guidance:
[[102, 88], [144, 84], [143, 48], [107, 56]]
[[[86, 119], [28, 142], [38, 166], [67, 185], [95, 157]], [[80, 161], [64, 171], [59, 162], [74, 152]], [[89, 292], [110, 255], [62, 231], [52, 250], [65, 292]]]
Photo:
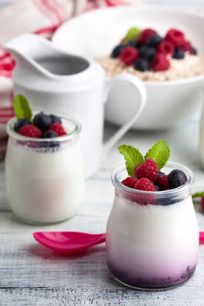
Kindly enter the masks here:
[[130, 176], [135, 176], [134, 169], [136, 166], [142, 164], [144, 162], [144, 158], [140, 151], [136, 148], [134, 148], [132, 145], [120, 145], [118, 147], [119, 152], [124, 156], [124, 159], [126, 161], [126, 169], [127, 173]]

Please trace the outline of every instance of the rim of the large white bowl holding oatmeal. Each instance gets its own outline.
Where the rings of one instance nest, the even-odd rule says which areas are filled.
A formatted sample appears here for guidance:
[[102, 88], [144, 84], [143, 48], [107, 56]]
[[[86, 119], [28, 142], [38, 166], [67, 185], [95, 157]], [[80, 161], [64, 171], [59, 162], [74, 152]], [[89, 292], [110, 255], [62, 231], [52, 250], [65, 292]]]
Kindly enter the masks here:
[[[58, 36], [58, 34], [60, 33], [60, 31], [63, 28], [67, 27], [67, 24], [77, 20], [77, 19], [81, 19], [84, 18], [84, 16], [89, 16], [89, 15], [97, 15], [100, 14], [101, 12], [110, 12], [110, 11], [121, 11], [121, 10], [136, 10], [136, 11], [165, 11], [165, 12], [171, 12], [171, 13], [180, 13], [182, 15], [186, 15], [186, 16], [191, 16], [191, 17], [196, 17], [198, 19], [203, 20], [204, 22], [204, 15], [200, 15], [198, 12], [190, 12], [188, 10], [183, 11], [182, 7], [172, 7], [170, 5], [121, 5], [121, 6], [116, 6], [116, 7], [106, 7], [106, 8], [99, 8], [97, 10], [92, 10], [92, 11], [88, 11], [82, 15], [78, 15], [78, 16], [74, 16], [73, 18], [65, 21], [64, 23], [62, 23], [62, 25], [60, 25], [60, 27], [55, 31], [55, 33], [52, 36], [52, 42], [54, 43], [54, 45], [56, 47], [58, 46], [58, 43], [56, 43], [56, 37]], [[60, 48], [60, 47], [59, 47]], [[61, 49], [61, 48], [60, 48]], [[66, 52], [66, 50], [63, 50], [64, 52]], [[84, 57], [86, 58], [86, 57]], [[92, 59], [94, 60], [94, 59]], [[107, 81], [109, 81], [111, 78], [106, 78]], [[144, 84], [146, 86], [171, 86], [171, 85], [181, 85], [181, 84], [188, 84], [188, 83], [193, 83], [193, 82], [201, 82], [204, 80], [204, 73], [200, 74], [200, 75], [195, 75], [194, 77], [191, 78], [186, 78], [186, 79], [179, 79], [179, 80], [170, 80], [170, 81], [142, 81], [144, 82]]]

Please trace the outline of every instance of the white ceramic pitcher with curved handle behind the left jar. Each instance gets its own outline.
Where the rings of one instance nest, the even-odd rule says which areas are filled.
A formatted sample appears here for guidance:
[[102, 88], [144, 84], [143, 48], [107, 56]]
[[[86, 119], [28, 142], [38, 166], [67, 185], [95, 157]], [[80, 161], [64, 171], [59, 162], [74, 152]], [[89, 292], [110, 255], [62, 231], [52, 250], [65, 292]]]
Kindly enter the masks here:
[[[100, 167], [109, 149], [139, 118], [146, 103], [143, 83], [131, 74], [105, 81], [105, 71], [93, 60], [66, 54], [48, 40], [23, 34], [6, 45], [16, 59], [14, 94], [25, 95], [32, 109], [74, 117], [82, 124], [82, 147], [86, 177]], [[104, 103], [110, 88], [127, 82], [138, 90], [140, 106], [132, 118], [103, 145]]]

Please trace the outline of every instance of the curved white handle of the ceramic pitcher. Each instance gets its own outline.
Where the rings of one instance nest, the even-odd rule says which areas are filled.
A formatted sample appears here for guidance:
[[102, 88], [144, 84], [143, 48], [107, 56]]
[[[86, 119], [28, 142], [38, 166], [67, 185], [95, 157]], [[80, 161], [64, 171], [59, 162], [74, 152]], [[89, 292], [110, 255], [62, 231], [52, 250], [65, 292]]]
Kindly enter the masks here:
[[140, 95], [140, 107], [137, 109], [134, 116], [124, 123], [120, 129], [104, 144], [103, 152], [102, 152], [102, 160], [104, 160], [109, 152], [109, 150], [114, 146], [114, 144], [130, 129], [130, 127], [135, 123], [135, 121], [139, 118], [141, 115], [147, 100], [147, 93], [146, 88], [143, 84], [143, 82], [135, 77], [135, 75], [132, 75], [130, 73], [121, 73], [116, 75], [112, 80], [110, 80], [109, 87], [107, 93], [110, 92], [113, 85], [119, 82], [125, 82], [132, 86], [134, 86]]

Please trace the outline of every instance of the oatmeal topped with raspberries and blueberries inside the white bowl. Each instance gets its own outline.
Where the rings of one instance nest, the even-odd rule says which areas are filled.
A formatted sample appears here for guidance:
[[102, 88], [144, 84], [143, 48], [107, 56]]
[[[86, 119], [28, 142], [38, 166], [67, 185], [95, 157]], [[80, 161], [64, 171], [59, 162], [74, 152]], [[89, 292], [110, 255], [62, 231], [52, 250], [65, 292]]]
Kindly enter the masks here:
[[127, 72], [142, 81], [172, 81], [204, 73], [204, 55], [177, 29], [162, 37], [152, 29], [131, 28], [110, 55], [96, 60], [108, 78]]

